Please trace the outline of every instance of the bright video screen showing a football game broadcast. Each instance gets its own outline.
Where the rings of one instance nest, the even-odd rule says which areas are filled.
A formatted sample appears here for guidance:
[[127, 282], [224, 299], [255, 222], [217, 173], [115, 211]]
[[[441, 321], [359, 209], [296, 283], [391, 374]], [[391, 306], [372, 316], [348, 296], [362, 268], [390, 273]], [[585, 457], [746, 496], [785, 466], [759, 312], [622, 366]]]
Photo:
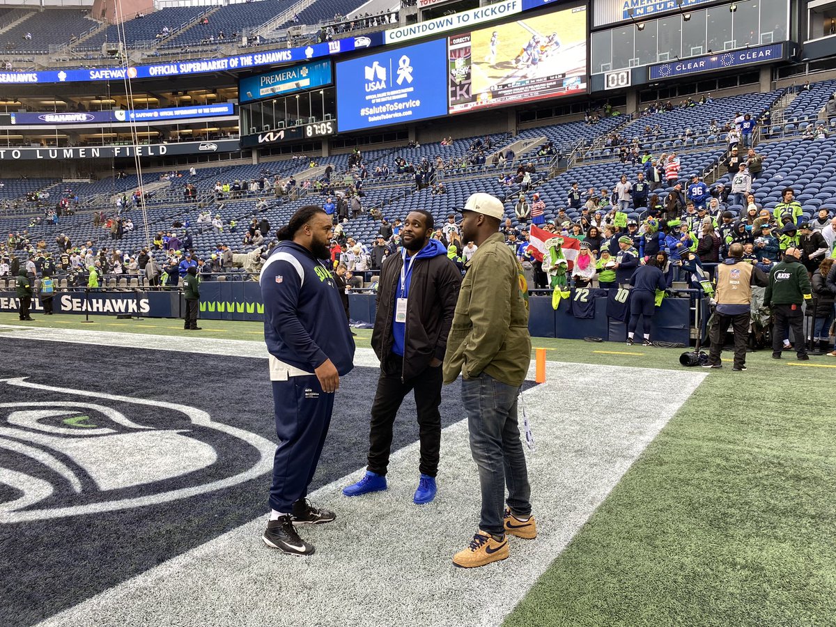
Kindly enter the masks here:
[[586, 7], [447, 38], [450, 113], [587, 89]]

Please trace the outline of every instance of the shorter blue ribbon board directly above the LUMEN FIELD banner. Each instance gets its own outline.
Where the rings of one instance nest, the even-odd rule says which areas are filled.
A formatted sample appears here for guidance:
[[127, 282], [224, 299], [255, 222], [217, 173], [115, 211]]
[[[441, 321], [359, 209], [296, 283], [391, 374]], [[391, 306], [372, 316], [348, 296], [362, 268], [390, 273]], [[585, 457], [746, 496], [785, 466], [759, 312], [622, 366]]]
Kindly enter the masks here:
[[191, 107], [148, 109], [134, 111], [90, 111], [85, 113], [13, 113], [12, 125], [99, 125], [120, 122], [160, 122], [164, 120], [188, 120], [189, 118], [220, 117], [234, 115], [231, 103], [200, 104]]

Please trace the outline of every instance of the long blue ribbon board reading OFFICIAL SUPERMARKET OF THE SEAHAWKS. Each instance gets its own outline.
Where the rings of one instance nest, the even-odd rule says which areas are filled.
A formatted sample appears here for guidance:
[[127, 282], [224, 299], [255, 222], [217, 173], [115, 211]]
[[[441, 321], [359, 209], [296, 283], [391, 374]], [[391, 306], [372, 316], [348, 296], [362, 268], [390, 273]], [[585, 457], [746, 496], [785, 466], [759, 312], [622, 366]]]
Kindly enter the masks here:
[[191, 76], [209, 72], [244, 72], [263, 65], [309, 61], [333, 54], [383, 45], [382, 32], [362, 37], [347, 37], [323, 43], [311, 43], [298, 48], [263, 50], [222, 59], [190, 59], [170, 64], [137, 65], [130, 68], [61, 69], [43, 72], [0, 72], [0, 84], [89, 83], [129, 79], [156, 79], [166, 76]]

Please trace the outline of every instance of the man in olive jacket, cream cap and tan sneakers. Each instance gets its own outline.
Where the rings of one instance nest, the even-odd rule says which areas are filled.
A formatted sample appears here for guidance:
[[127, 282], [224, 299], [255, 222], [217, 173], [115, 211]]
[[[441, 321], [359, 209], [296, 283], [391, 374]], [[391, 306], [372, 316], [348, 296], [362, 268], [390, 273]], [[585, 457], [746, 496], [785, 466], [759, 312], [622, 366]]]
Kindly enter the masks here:
[[[456, 566], [484, 566], [508, 557], [506, 533], [535, 538], [517, 396], [531, 359], [523, 268], [499, 233], [502, 201], [477, 193], [462, 210], [461, 241], [478, 249], [466, 265], [444, 358], [444, 382], [461, 372], [473, 460], [482, 487], [482, 516]], [[507, 509], [503, 507], [508, 486]]]

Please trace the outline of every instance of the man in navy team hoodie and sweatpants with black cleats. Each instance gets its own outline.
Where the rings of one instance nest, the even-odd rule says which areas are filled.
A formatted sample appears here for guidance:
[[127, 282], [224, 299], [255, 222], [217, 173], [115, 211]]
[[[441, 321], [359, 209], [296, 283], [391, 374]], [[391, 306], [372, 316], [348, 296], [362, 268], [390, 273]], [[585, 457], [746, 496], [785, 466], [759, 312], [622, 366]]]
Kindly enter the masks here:
[[334, 520], [334, 512], [314, 507], [306, 497], [328, 435], [339, 377], [354, 367], [349, 321], [324, 263], [332, 229], [322, 207], [303, 206], [278, 231], [278, 246], [260, 278], [280, 441], [273, 459], [270, 522], [262, 538], [292, 555], [314, 553], [293, 523]]

